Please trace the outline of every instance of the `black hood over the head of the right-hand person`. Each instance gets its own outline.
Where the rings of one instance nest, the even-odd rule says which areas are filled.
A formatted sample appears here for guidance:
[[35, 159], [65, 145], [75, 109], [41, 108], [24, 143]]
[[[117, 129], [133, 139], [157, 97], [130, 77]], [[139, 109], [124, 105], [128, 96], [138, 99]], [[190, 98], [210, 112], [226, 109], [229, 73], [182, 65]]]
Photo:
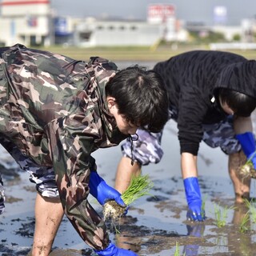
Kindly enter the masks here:
[[236, 62], [226, 66], [215, 89], [227, 88], [256, 98], [256, 61]]

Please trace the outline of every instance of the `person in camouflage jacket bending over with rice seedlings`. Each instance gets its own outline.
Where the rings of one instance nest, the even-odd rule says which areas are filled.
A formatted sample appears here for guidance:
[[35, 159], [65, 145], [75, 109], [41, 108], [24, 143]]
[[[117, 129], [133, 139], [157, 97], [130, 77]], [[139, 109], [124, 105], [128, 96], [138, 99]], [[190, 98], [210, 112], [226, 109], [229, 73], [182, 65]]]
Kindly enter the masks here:
[[19, 44], [0, 49], [0, 78], [0, 142], [38, 190], [32, 255], [50, 253], [63, 212], [98, 255], [136, 255], [110, 242], [87, 200], [90, 193], [102, 205], [126, 206], [97, 173], [91, 153], [117, 146], [140, 126], [162, 130], [162, 78], [139, 66], [118, 70], [104, 58], [84, 62]]

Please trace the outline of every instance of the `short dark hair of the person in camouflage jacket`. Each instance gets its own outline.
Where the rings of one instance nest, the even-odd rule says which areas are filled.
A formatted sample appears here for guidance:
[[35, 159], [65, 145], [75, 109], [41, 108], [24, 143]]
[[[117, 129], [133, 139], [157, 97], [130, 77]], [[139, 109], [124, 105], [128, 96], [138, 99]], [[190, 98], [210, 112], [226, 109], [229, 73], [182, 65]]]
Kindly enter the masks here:
[[119, 114], [135, 126], [158, 132], [168, 120], [166, 86], [153, 70], [136, 65], [118, 71], [106, 85], [106, 96], [115, 98]]

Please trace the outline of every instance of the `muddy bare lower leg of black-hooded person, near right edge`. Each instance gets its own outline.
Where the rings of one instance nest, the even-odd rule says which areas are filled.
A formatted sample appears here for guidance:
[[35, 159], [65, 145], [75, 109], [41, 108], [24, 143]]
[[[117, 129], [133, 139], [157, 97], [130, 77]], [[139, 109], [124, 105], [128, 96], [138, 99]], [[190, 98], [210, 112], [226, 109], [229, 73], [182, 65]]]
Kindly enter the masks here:
[[243, 178], [238, 174], [238, 168], [246, 163], [246, 156], [243, 152], [229, 155], [229, 173], [233, 182], [236, 202], [243, 202], [243, 199], [250, 197], [250, 177]]

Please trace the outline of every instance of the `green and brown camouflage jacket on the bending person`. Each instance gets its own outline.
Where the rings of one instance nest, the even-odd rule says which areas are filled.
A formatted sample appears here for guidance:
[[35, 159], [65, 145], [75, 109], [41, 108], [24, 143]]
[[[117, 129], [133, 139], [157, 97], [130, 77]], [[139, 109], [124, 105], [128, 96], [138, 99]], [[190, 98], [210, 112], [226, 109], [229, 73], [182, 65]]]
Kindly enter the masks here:
[[97, 238], [86, 238], [88, 222], [94, 230], [104, 226], [86, 202], [96, 168], [90, 154], [125, 138], [106, 105], [105, 86], [117, 67], [103, 58], [75, 61], [22, 45], [0, 50], [0, 133], [38, 165], [54, 167], [67, 217], [100, 248]]

